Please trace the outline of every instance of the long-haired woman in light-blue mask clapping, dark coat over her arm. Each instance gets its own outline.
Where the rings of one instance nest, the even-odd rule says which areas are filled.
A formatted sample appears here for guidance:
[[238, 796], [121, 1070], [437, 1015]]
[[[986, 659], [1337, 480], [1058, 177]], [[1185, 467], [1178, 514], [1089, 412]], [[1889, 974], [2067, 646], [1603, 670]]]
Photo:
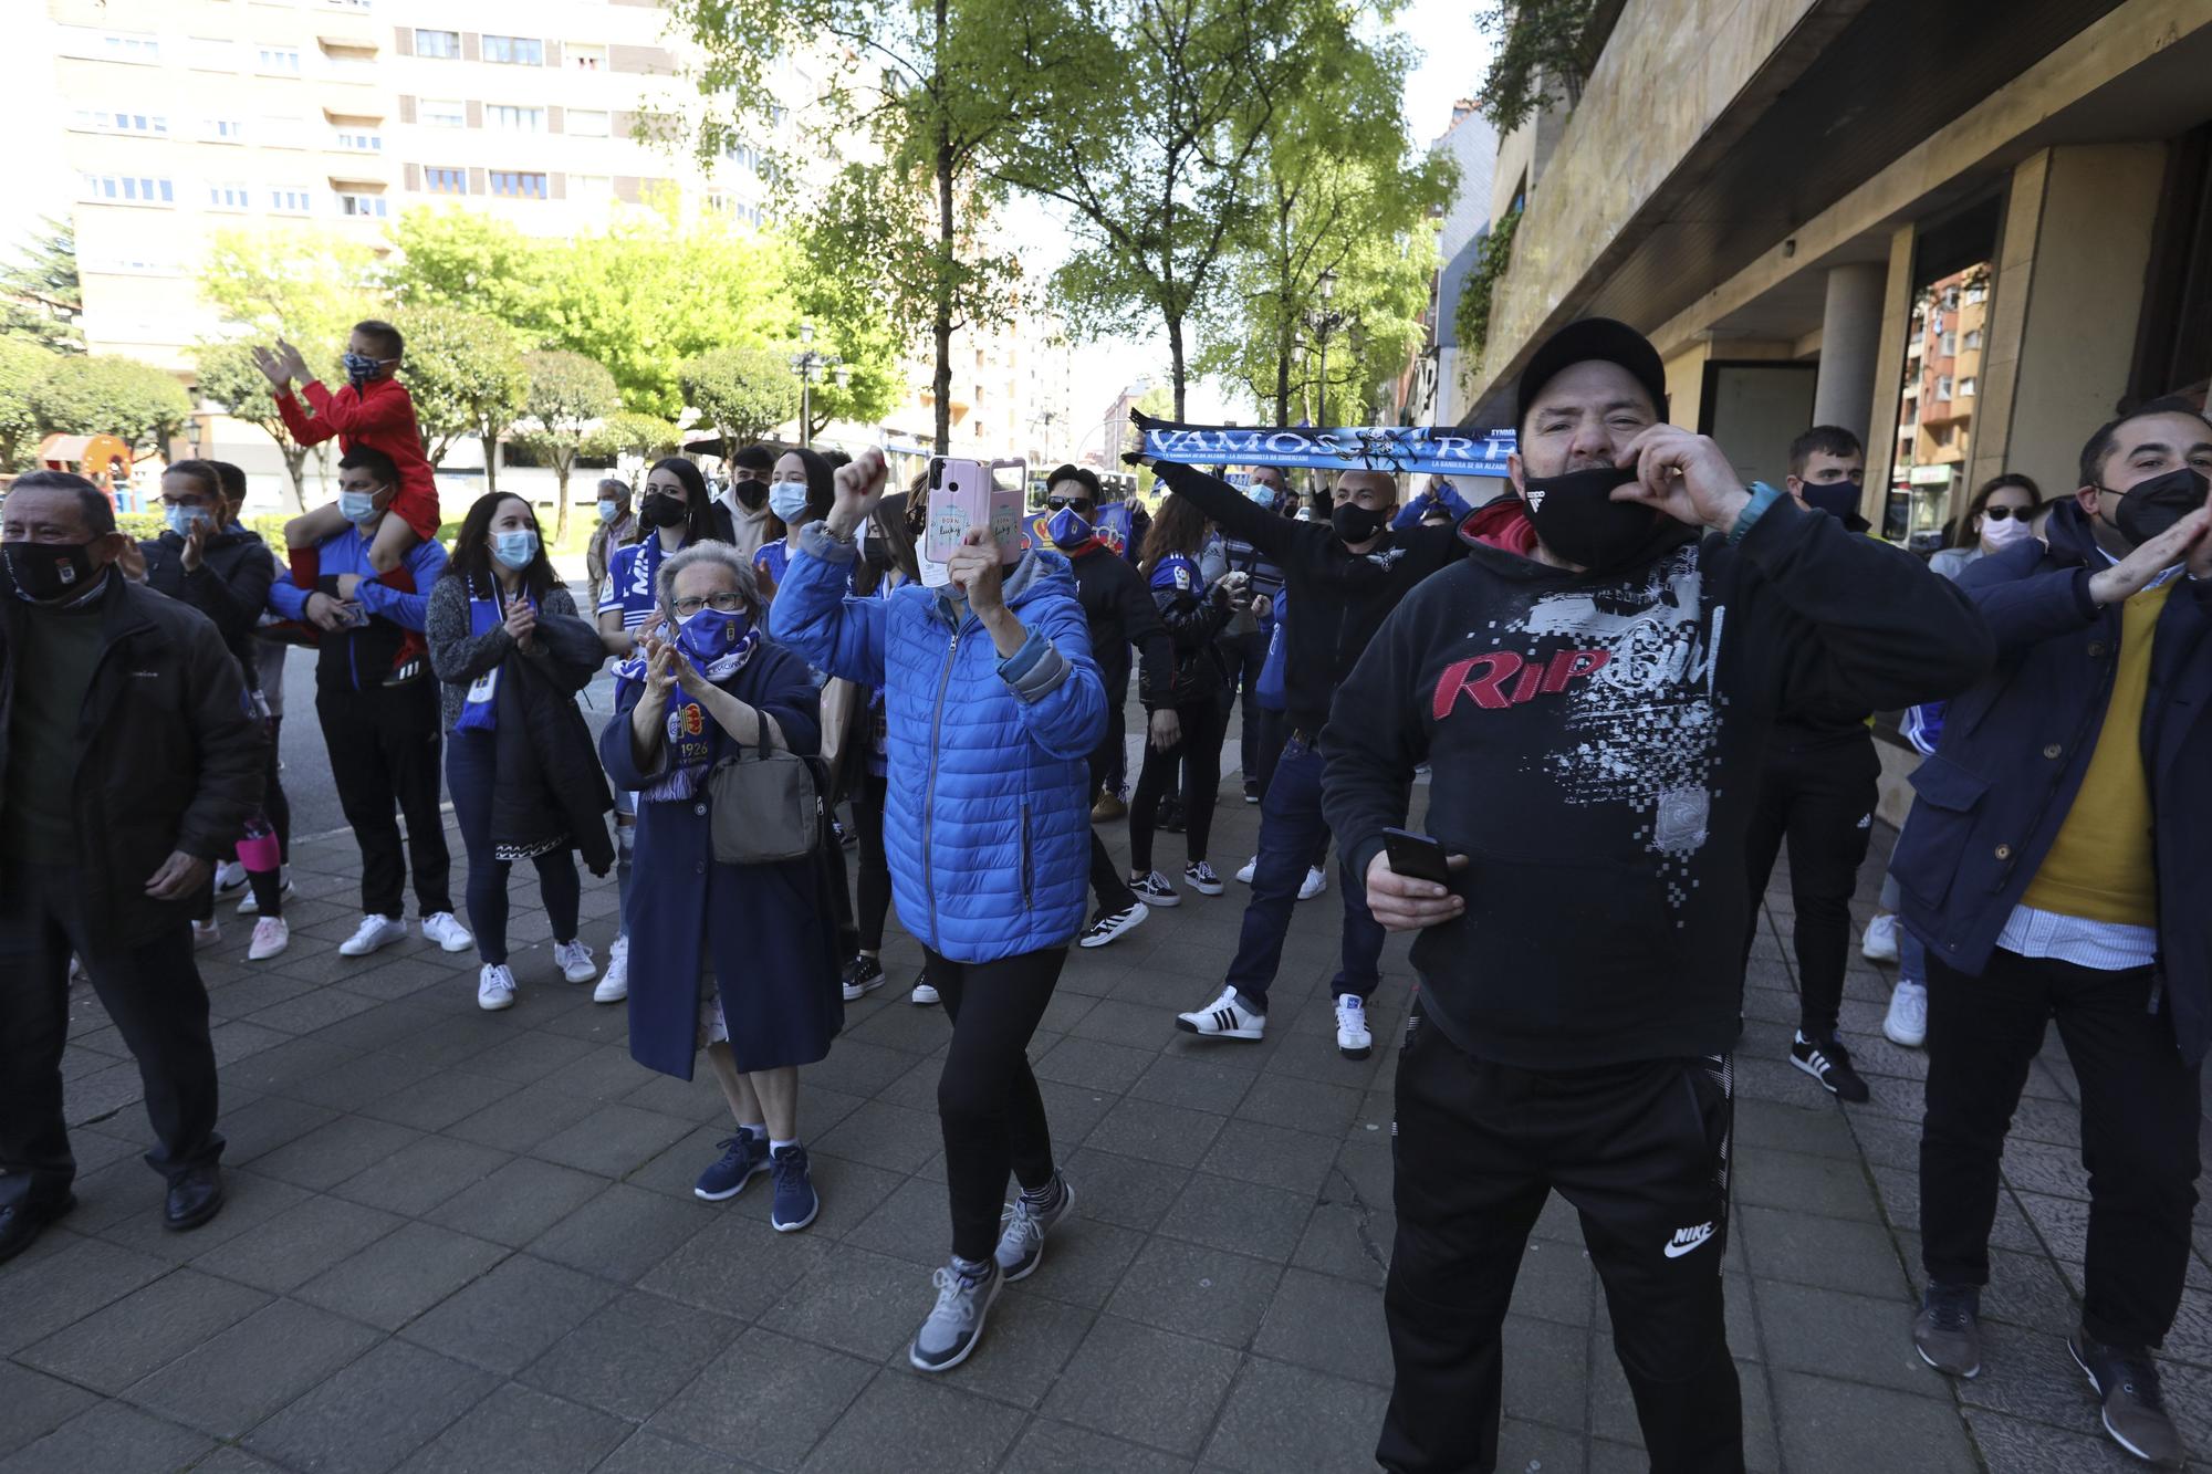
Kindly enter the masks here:
[[593, 874], [615, 863], [606, 837], [613, 797], [575, 693], [591, 684], [606, 648], [553, 573], [526, 500], [487, 491], [469, 507], [431, 584], [425, 640], [449, 735], [445, 786], [469, 850], [469, 930], [482, 961], [476, 1007], [515, 1003], [507, 876], [522, 859], [538, 868], [553, 965], [568, 983], [591, 983], [599, 967], [577, 936], [575, 850]]

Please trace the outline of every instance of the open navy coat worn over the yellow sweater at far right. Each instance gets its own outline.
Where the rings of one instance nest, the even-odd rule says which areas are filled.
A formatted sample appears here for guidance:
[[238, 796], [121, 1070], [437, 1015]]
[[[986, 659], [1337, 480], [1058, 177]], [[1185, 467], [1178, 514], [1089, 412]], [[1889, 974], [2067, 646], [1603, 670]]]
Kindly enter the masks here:
[[[2051, 547], [1978, 560], [1960, 587], [1997, 637], [1997, 671], [1951, 699], [1942, 744], [1913, 772], [1889, 861], [1900, 916], [1944, 965], [1980, 976], [2088, 772], [2119, 671], [2119, 609], [2088, 598], [2108, 567], [2073, 502]], [[2150, 646], [2143, 770], [2157, 817], [2159, 987], [2197, 1065], [2212, 1045], [2212, 580], [2181, 578]], [[2157, 994], [2154, 994], [2157, 998]]]

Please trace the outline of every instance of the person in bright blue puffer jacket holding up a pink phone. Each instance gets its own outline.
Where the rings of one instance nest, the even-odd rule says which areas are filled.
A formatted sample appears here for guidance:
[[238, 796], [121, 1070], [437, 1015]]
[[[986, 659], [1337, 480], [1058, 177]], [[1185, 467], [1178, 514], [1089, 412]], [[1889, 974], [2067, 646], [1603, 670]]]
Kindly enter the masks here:
[[[1002, 569], [973, 531], [951, 560], [925, 558], [920, 584], [847, 598], [854, 531], [883, 480], [880, 451], [838, 469], [770, 626], [807, 664], [883, 686], [891, 896], [953, 1020], [938, 1078], [953, 1255], [907, 1348], [916, 1368], [942, 1372], [975, 1348], [1000, 1286], [1037, 1268], [1075, 1200], [1026, 1049], [1084, 923], [1106, 684], [1075, 578], [1048, 549]], [[1009, 1169], [1022, 1195], [1002, 1228]]]

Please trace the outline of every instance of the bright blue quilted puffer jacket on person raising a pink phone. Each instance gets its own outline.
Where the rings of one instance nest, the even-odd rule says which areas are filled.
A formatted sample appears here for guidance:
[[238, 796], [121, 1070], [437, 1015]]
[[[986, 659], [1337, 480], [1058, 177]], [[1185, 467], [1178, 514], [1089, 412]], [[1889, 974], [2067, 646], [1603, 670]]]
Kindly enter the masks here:
[[956, 963], [1064, 947], [1084, 923], [1091, 750], [1106, 684], [1068, 560], [1033, 549], [1006, 575], [1029, 640], [1000, 660], [982, 622], [936, 589], [849, 598], [854, 547], [810, 522], [770, 609], [807, 664], [883, 686], [883, 845], [898, 918]]

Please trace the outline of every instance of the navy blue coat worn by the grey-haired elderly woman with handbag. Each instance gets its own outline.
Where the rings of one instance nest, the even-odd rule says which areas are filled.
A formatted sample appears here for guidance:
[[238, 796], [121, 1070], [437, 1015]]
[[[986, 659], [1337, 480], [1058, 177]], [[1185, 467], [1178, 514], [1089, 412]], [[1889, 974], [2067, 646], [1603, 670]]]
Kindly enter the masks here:
[[[792, 752], [821, 752], [821, 695], [805, 662], [770, 640], [721, 684], [783, 730]], [[639, 792], [668, 766], [639, 772], [630, 710], [641, 682], [624, 682], [615, 719], [599, 733], [599, 761], [617, 788]], [[708, 764], [730, 735], [708, 719]], [[699, 943], [712, 949], [714, 985], [741, 1071], [812, 1065], [843, 1025], [836, 927], [810, 861], [717, 865], [701, 781], [697, 799], [637, 799], [637, 861], [630, 876], [630, 1058], [690, 1080], [699, 1029]]]

